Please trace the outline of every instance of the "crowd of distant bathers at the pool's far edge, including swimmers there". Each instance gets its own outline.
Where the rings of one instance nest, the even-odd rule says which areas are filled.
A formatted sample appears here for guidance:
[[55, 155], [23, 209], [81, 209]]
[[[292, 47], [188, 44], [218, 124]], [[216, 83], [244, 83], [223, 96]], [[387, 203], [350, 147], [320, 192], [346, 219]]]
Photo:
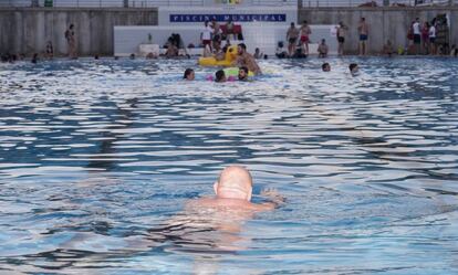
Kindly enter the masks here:
[[[444, 54], [445, 49], [441, 49], [439, 44], [436, 42], [437, 35], [437, 20], [436, 18], [433, 21], [428, 22], [425, 21], [420, 23], [419, 18], [417, 18], [414, 22], [412, 22], [407, 39], [408, 45], [406, 47], [399, 46], [397, 50], [393, 45], [393, 43], [388, 40], [386, 44], [383, 46], [382, 55], [384, 56], [393, 56], [394, 54]], [[228, 49], [231, 47], [231, 41], [243, 41], [243, 34], [241, 33], [240, 28], [236, 28], [237, 25], [232, 21], [227, 21], [225, 25], [220, 25], [216, 20], [209, 22], [204, 22], [204, 27], [200, 32], [200, 46], [202, 47], [202, 57], [212, 57], [216, 61], [223, 61], [227, 59]], [[240, 25], [238, 25], [240, 27]], [[76, 51], [76, 35], [75, 35], [75, 25], [70, 24], [64, 33], [64, 38], [67, 43], [67, 56], [72, 60], [77, 59], [77, 51]], [[335, 27], [335, 36], [337, 40], [337, 55], [344, 55], [344, 44], [346, 40], [346, 33], [348, 32], [350, 28], [344, 24], [342, 21]], [[368, 23], [366, 22], [365, 18], [361, 18], [360, 23], [357, 25], [357, 33], [358, 33], [358, 54], [366, 55], [367, 54], [367, 40], [369, 36], [369, 28]], [[310, 46], [311, 43], [311, 34], [312, 28], [309, 25], [308, 21], [303, 21], [302, 24], [296, 28], [294, 22], [291, 22], [290, 28], [288, 28], [285, 33], [285, 41], [288, 46], [284, 46], [283, 41], [278, 42], [278, 46], [275, 49], [275, 56], [278, 59], [304, 59], [310, 55]], [[194, 47], [192, 44], [188, 45], [189, 47]], [[158, 59], [160, 56], [165, 59], [180, 59], [186, 57], [189, 59], [190, 55], [186, 52], [185, 43], [181, 40], [179, 34], [171, 34], [167, 42], [164, 45], [166, 50], [164, 54], [159, 55], [157, 53], [147, 53], [146, 59]], [[321, 39], [316, 54], [318, 57], [327, 57], [329, 56], [329, 45], [326, 44], [325, 39]], [[458, 49], [456, 45], [452, 45], [449, 50], [450, 56], [458, 55]], [[25, 60], [24, 54], [0, 54], [1, 62], [9, 62], [14, 63], [15, 61]], [[51, 41], [46, 42], [45, 52], [43, 54], [34, 53], [31, 62], [38, 63], [40, 59], [52, 60], [54, 57], [54, 50], [53, 44]], [[98, 60], [100, 56], [95, 55], [94, 59]], [[115, 60], [118, 57], [115, 56]], [[129, 55], [131, 60], [136, 59], [136, 55], [133, 53]], [[261, 75], [261, 68], [258, 65], [257, 60], [268, 60], [269, 56], [259, 47], [254, 49], [253, 54], [248, 52], [247, 45], [244, 43], [237, 44], [237, 59], [231, 61], [230, 66], [236, 67], [238, 70], [238, 75], [227, 75], [225, 70], [218, 70], [215, 73], [215, 76], [207, 77], [209, 81], [215, 81], [218, 83], [227, 82], [227, 81], [251, 81], [252, 75]], [[358, 66], [355, 63], [348, 65], [350, 73], [355, 76], [358, 73]], [[323, 72], [331, 71], [331, 64], [324, 62], [322, 64]], [[187, 81], [195, 80], [195, 72], [192, 68], [187, 68], [184, 74], [184, 78]]]

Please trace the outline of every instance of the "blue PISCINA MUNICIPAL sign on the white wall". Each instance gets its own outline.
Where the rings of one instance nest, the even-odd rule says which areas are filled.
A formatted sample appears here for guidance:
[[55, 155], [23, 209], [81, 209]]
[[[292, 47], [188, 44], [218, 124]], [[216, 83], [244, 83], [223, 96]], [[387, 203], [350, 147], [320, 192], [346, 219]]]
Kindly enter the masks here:
[[226, 22], [228, 20], [237, 22], [285, 22], [287, 14], [170, 14], [170, 23], [183, 22], [205, 22], [205, 21], [220, 21]]

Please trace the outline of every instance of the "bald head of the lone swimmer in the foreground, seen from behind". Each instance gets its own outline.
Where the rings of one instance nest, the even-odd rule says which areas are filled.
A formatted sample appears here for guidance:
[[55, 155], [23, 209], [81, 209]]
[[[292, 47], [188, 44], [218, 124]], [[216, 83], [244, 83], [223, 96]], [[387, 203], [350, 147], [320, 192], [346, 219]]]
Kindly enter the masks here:
[[214, 184], [218, 199], [251, 200], [252, 178], [250, 172], [241, 166], [229, 166], [219, 174]]

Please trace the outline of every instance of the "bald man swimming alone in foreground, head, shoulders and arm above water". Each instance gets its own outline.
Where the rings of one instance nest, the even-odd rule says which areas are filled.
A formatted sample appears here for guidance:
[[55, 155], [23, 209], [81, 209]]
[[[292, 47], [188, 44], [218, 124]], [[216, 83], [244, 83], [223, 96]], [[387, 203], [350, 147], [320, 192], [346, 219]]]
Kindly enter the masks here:
[[247, 211], [268, 211], [284, 203], [284, 198], [274, 190], [264, 190], [261, 194], [269, 197], [269, 202], [252, 203], [252, 178], [241, 166], [229, 166], [214, 183], [215, 198], [200, 198], [188, 203], [190, 208], [225, 208]]

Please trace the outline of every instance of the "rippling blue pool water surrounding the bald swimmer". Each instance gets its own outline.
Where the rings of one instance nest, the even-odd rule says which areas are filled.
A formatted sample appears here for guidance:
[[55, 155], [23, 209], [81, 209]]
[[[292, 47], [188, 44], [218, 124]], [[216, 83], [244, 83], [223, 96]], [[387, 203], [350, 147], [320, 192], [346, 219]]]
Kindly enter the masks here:
[[[0, 273], [457, 274], [458, 62], [327, 61], [0, 64]], [[186, 216], [231, 163], [287, 204]]]

